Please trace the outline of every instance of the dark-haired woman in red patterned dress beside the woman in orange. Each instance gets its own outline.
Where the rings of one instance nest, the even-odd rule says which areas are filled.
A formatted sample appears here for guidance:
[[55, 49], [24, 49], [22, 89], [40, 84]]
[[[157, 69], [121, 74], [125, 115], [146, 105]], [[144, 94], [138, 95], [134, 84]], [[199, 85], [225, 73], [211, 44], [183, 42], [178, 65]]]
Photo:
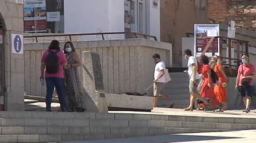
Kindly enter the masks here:
[[[220, 104], [220, 102], [217, 101], [216, 95], [214, 94], [214, 84], [213, 80], [211, 80], [211, 67], [208, 65], [209, 59], [207, 56], [203, 55], [200, 60], [204, 65], [202, 68], [204, 83], [202, 84], [201, 96], [203, 98], [211, 99], [211, 105], [217, 106]], [[204, 107], [204, 105], [202, 106]]]

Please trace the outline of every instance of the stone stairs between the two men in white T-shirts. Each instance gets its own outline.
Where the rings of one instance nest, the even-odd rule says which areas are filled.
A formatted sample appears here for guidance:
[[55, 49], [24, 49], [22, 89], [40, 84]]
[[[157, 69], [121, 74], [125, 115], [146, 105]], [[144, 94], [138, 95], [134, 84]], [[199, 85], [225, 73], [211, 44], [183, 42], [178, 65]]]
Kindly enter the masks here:
[[[189, 75], [183, 72], [170, 72], [172, 81], [166, 84], [164, 93], [167, 94], [169, 99], [175, 102], [174, 108], [186, 108], [189, 106]], [[169, 107], [169, 104], [160, 98], [158, 106]]]

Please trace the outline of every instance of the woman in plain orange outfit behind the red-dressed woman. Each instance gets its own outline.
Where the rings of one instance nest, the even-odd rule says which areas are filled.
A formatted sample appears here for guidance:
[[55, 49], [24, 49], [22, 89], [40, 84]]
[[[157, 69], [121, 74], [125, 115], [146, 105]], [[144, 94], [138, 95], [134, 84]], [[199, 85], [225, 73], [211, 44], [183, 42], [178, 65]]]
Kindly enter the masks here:
[[214, 93], [216, 95], [217, 100], [221, 103], [221, 108], [217, 111], [223, 112], [228, 106], [226, 104], [226, 89], [222, 86], [223, 83], [227, 83], [228, 80], [224, 73], [224, 69], [222, 66], [222, 62], [218, 56], [211, 57], [211, 63], [214, 63], [214, 71], [219, 77], [219, 85], [214, 87]]

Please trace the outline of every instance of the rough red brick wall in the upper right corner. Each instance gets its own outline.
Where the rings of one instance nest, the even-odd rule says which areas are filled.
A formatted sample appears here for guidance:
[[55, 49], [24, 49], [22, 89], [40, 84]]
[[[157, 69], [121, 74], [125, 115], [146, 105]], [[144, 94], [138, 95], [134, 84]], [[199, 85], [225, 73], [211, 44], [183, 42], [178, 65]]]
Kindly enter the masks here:
[[234, 20], [237, 26], [256, 29], [256, 1], [209, 0], [208, 14], [216, 22]]

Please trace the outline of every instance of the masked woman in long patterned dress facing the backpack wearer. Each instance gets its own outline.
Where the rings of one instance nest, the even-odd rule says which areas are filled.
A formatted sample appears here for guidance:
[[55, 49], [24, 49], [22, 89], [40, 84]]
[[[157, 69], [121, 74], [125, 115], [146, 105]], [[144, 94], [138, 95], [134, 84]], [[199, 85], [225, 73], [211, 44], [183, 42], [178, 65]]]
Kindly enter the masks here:
[[84, 112], [83, 93], [80, 84], [77, 67], [81, 66], [81, 60], [75, 53], [72, 42], [64, 44], [64, 54], [67, 58], [67, 66], [64, 68], [66, 106], [69, 112]]

